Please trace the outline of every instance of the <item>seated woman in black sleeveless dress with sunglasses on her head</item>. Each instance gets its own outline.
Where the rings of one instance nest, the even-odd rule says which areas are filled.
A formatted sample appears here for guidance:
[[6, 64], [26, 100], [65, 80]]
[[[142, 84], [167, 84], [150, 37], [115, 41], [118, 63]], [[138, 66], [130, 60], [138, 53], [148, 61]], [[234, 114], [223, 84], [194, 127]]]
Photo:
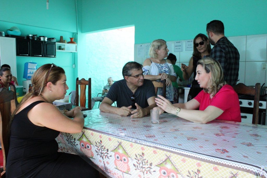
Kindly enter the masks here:
[[52, 104], [68, 90], [64, 69], [42, 65], [32, 85], [11, 117], [6, 177], [99, 177], [80, 156], [58, 152], [60, 132], [80, 133], [84, 126], [80, 107], [60, 111]]

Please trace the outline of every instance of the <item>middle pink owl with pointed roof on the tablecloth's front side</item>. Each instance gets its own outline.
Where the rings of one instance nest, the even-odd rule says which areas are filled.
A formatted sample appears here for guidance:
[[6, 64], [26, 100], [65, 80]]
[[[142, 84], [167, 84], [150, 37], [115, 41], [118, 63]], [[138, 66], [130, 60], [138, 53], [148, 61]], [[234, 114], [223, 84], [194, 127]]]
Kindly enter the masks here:
[[129, 158], [131, 157], [127, 154], [126, 150], [121, 145], [121, 142], [119, 142], [119, 145], [115, 149], [113, 149], [112, 152], [114, 152], [114, 165], [116, 166], [116, 169], [123, 173], [129, 174]]

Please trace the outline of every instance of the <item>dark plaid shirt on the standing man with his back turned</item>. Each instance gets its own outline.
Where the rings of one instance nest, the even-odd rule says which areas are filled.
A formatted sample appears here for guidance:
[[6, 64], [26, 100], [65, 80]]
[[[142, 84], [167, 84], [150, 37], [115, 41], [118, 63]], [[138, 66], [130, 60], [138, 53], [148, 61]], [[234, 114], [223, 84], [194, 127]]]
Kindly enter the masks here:
[[234, 45], [226, 37], [222, 37], [212, 48], [210, 57], [221, 64], [225, 81], [229, 85], [235, 85], [238, 80], [240, 56]]

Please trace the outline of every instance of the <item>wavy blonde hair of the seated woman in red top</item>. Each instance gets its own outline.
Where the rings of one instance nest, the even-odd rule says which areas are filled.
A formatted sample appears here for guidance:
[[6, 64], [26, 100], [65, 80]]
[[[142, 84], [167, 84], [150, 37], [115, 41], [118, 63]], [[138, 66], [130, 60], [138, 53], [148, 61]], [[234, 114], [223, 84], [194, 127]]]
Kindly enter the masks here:
[[208, 83], [210, 87], [203, 88], [203, 90], [209, 94], [213, 93], [214, 96], [226, 84], [221, 64], [211, 57], [206, 57], [198, 60], [197, 65], [202, 65], [207, 73], [211, 72], [211, 78]]

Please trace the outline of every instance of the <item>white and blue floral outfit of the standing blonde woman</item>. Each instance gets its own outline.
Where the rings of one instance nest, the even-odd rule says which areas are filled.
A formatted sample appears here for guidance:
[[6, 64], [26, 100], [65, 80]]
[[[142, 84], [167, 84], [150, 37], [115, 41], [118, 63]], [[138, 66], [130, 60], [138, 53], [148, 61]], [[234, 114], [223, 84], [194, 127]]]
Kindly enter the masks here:
[[[165, 60], [166, 61], [166, 60]], [[152, 62], [152, 61], [151, 61]], [[152, 62], [151, 65], [147, 65], [143, 67], [144, 75], [159, 75], [159, 73], [166, 73], [168, 75], [173, 75], [177, 78], [176, 73], [174, 72], [174, 68], [172, 64], [164, 63], [158, 64]], [[162, 82], [160, 79], [156, 80], [157, 82]], [[158, 89], [157, 95], [162, 95], [162, 88]], [[169, 101], [173, 101], [173, 89], [172, 85], [166, 87], [166, 99]]]

